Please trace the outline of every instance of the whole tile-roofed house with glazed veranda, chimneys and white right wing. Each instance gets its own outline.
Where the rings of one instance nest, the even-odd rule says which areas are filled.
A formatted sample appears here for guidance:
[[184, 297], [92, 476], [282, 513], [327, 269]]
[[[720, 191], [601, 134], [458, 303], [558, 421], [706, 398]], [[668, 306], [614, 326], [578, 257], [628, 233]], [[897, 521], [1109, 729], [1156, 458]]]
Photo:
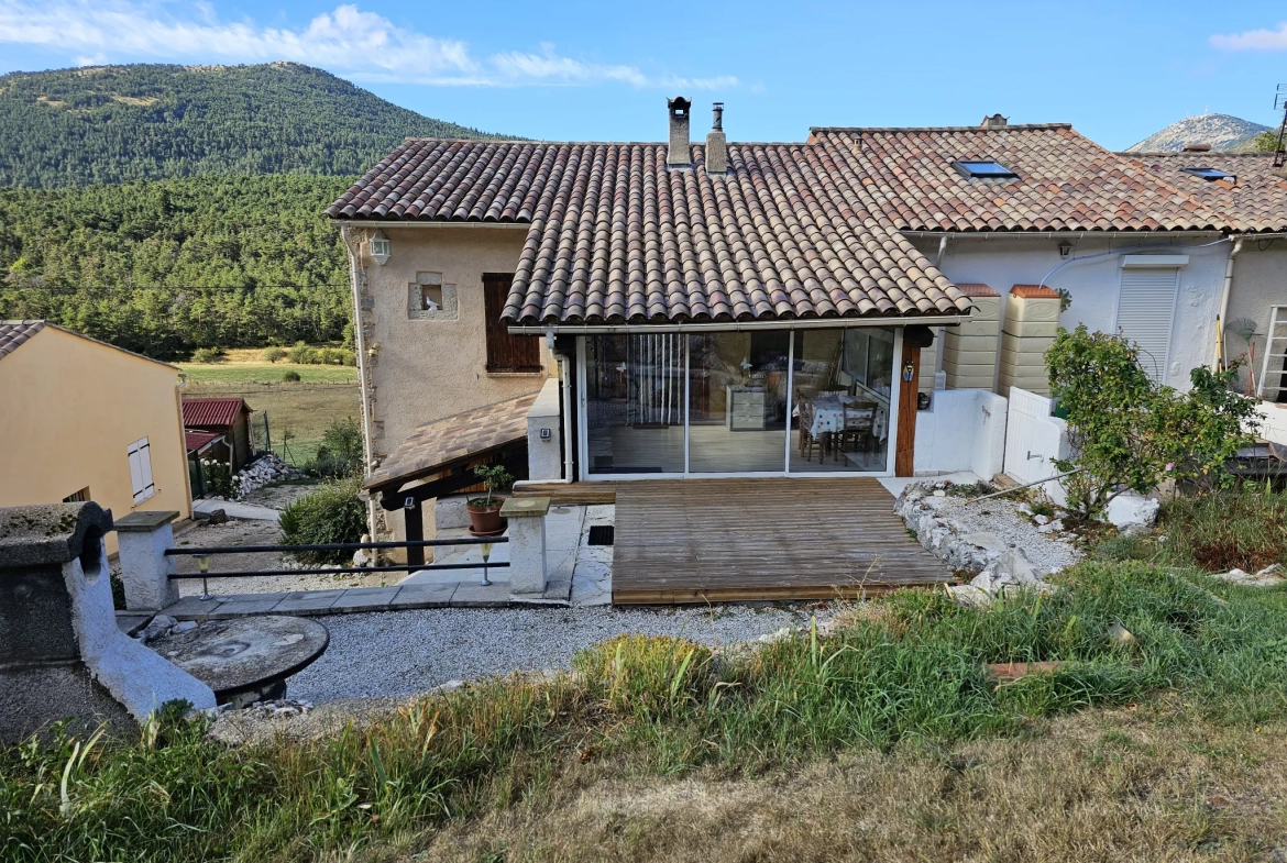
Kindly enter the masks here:
[[[703, 145], [668, 112], [664, 144], [408, 140], [327, 211], [386, 512], [537, 441], [564, 481], [910, 476], [918, 412], [968, 401], [937, 387], [1040, 391], [1060, 324], [1180, 387], [1211, 361], [1230, 219], [1068, 125], [730, 144], [717, 104]], [[506, 405], [541, 422], [480, 435]]]

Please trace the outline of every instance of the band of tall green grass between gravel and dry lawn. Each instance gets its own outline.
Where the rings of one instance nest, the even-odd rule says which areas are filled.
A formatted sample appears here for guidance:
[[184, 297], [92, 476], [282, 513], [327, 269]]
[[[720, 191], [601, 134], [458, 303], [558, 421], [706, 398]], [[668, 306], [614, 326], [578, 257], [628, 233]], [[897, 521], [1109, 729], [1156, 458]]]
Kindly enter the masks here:
[[[1225, 722], [1287, 706], [1287, 593], [1142, 562], [1084, 563], [1054, 594], [959, 608], [902, 592], [834, 634], [712, 652], [622, 637], [548, 683], [489, 680], [367, 731], [229, 749], [170, 722], [144, 743], [58, 734], [0, 752], [0, 859], [306, 860], [539, 797], [578, 760], [759, 770], [849, 747], [1024, 733], [1169, 688]], [[1121, 644], [1115, 624], [1134, 634]], [[1062, 660], [999, 686], [990, 662]]]

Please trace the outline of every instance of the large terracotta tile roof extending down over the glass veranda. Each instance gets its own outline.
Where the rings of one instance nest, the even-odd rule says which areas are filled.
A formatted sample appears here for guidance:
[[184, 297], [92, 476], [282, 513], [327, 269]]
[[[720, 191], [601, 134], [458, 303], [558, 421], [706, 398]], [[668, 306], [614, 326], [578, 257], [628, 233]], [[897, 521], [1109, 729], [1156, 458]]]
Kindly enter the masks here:
[[530, 223], [511, 323], [967, 314], [969, 300], [856, 184], [830, 144], [732, 144], [727, 174], [664, 144], [403, 144], [335, 219]]

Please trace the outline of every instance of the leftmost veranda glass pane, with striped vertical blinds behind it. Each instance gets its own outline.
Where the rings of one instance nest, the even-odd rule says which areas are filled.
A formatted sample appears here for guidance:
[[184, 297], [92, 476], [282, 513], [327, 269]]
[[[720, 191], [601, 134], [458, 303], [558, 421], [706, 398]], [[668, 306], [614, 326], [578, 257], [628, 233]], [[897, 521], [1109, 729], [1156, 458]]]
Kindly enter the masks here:
[[677, 333], [586, 340], [586, 471], [683, 472], [683, 346]]

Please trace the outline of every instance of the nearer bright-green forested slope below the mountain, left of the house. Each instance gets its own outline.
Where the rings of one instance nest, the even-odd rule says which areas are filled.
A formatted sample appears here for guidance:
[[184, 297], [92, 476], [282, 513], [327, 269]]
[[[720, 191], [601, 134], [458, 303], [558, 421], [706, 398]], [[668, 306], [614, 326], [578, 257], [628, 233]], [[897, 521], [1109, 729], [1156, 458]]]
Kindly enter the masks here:
[[342, 338], [347, 259], [322, 210], [350, 181], [205, 176], [0, 190], [0, 318], [46, 318], [163, 359]]

